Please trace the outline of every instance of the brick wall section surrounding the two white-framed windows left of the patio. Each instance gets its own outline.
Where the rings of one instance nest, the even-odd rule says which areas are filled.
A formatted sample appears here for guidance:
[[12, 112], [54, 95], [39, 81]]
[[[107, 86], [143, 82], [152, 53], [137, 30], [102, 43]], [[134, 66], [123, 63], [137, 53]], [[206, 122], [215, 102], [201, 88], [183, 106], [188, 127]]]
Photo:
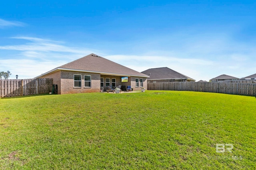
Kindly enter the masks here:
[[[81, 75], [81, 87], [74, 87], [74, 74]], [[91, 87], [84, 87], [84, 75], [91, 76]], [[87, 72], [61, 71], [61, 94], [100, 92], [100, 74]]]

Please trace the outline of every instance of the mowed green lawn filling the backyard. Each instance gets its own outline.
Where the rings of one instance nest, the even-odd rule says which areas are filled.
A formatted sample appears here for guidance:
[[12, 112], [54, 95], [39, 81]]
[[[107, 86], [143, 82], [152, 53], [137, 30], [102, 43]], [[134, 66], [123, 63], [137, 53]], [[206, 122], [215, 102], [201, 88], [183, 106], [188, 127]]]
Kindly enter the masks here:
[[[255, 169], [256, 98], [181, 91], [0, 99], [1, 169]], [[216, 144], [232, 144], [217, 153]]]

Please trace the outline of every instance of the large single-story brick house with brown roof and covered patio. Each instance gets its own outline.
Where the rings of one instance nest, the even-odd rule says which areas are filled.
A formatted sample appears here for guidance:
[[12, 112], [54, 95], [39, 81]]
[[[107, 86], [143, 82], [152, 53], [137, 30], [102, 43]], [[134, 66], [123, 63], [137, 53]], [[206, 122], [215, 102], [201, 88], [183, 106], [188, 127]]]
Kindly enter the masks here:
[[[36, 78], [53, 78], [58, 94], [100, 92], [102, 87], [122, 85], [134, 90], [147, 88], [149, 76], [90, 54], [50, 70]], [[123, 81], [122, 81], [123, 79]]]

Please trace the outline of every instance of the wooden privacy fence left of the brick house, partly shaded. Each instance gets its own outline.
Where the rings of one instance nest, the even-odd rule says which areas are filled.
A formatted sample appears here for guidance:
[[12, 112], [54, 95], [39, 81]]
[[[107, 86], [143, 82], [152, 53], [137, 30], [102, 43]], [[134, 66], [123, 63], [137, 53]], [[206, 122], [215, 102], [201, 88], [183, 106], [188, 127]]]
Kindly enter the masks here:
[[52, 78], [0, 80], [0, 97], [27, 96], [52, 92]]

